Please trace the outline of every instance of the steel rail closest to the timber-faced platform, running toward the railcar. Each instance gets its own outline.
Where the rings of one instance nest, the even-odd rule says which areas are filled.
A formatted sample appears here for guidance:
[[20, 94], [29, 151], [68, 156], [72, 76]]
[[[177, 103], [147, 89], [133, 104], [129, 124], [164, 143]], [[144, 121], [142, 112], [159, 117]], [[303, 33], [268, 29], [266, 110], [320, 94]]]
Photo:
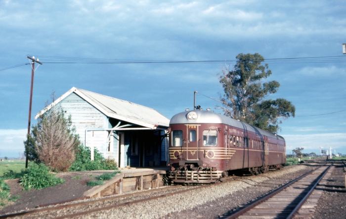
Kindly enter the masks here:
[[[150, 190], [145, 190], [145, 191], [141, 191], [141, 192], [135, 192], [135, 193], [125, 194], [125, 195], [117, 195], [117, 196], [113, 196], [113, 197], [101, 198], [101, 199], [96, 199], [96, 200], [91, 200], [91, 201], [86, 201], [86, 202], [79, 202], [79, 203], [60, 205], [60, 206], [49, 207], [49, 208], [36, 209], [36, 210], [32, 210], [32, 211], [18, 212], [18, 213], [13, 213], [13, 214], [8, 214], [8, 215], [1, 215], [0, 219], [20, 217], [20, 216], [28, 216], [28, 215], [32, 215], [32, 214], [44, 212], [44, 211], [52, 211], [52, 210], [59, 210], [59, 209], [64, 209], [64, 208], [71, 208], [71, 207], [76, 207], [76, 206], [81, 206], [81, 205], [92, 204], [95, 202], [102, 202], [102, 201], [107, 201], [107, 200], [112, 200], [112, 199], [125, 198], [125, 197], [129, 197], [132, 195], [145, 194], [145, 193], [150, 193], [150, 192], [155, 192], [155, 191], [160, 191], [160, 190], [166, 190], [166, 189], [170, 189], [170, 188], [177, 188], [177, 187], [181, 187], [181, 185], [169, 186], [169, 187], [158, 188], [158, 189], [150, 189]], [[80, 200], [82, 200], [82, 198], [80, 198]], [[77, 201], [77, 200], [78, 199], [74, 199], [72, 201]], [[65, 202], [61, 202], [61, 203], [65, 203]], [[57, 205], [57, 204], [61, 204], [61, 203], [52, 203], [50, 205]], [[47, 205], [44, 205], [44, 207], [45, 206], [47, 206]]]

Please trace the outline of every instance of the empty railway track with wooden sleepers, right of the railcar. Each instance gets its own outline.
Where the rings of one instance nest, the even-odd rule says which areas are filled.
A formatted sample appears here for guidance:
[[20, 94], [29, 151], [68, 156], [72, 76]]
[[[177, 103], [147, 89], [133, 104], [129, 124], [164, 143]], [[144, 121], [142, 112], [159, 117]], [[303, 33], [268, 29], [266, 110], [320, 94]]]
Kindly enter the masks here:
[[318, 167], [224, 216], [226, 219], [292, 219], [333, 164]]

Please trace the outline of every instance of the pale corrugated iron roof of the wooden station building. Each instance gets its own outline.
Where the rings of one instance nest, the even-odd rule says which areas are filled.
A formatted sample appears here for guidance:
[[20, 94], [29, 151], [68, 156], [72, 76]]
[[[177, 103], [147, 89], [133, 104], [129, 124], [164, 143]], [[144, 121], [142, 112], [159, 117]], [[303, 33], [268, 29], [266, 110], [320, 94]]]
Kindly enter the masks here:
[[63, 94], [54, 103], [41, 110], [35, 116], [35, 118], [42, 115], [45, 111], [49, 110], [51, 107], [59, 103], [62, 99], [67, 97], [72, 92], [75, 92], [77, 95], [81, 96], [89, 104], [103, 112], [108, 117], [128, 121], [130, 123], [149, 128], [154, 128], [156, 126], [169, 126], [170, 120], [160, 112], [152, 108], [144, 107], [142, 105], [131, 103], [129, 101], [120, 100], [114, 97], [105, 96], [75, 87], [71, 88], [68, 92]]

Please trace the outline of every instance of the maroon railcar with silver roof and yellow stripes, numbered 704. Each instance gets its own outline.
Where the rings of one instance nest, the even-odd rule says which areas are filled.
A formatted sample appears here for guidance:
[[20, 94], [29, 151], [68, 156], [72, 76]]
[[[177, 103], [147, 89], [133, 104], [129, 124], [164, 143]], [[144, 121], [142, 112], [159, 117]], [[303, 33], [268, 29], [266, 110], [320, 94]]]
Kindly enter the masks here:
[[286, 163], [284, 138], [210, 110], [174, 115], [169, 131], [174, 183], [214, 183], [231, 170], [258, 174]]

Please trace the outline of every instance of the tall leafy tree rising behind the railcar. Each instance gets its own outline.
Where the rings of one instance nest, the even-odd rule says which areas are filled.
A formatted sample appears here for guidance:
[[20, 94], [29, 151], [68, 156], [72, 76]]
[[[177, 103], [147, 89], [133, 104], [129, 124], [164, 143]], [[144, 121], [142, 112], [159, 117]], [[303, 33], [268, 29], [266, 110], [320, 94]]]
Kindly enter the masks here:
[[220, 97], [224, 114], [261, 129], [277, 133], [282, 119], [295, 116], [295, 106], [282, 98], [265, 98], [276, 93], [280, 83], [272, 80], [263, 82], [271, 75], [268, 64], [261, 63], [264, 58], [258, 53], [239, 54], [237, 63], [231, 69], [221, 70], [219, 81], [224, 95]]

